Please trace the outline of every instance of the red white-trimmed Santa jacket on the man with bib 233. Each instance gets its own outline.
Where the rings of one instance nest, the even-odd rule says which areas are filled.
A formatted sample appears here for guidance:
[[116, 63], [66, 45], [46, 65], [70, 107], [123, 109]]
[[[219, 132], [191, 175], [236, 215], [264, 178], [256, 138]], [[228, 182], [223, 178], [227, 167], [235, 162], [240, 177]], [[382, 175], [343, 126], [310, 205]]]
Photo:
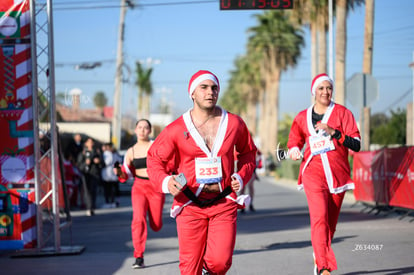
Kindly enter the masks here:
[[[234, 150], [238, 152], [237, 174], [234, 174]], [[231, 176], [239, 179], [241, 184], [247, 183], [251, 178], [255, 164], [256, 146], [243, 120], [234, 114], [222, 110], [220, 126], [217, 131], [215, 144], [212, 150], [208, 150], [202, 137], [197, 132], [190, 117], [190, 112], [168, 125], [155, 139], [148, 151], [147, 164], [148, 175], [151, 182], [156, 185], [158, 191], [168, 193], [169, 170], [184, 173], [187, 186], [198, 196], [203, 187], [195, 179], [195, 158], [221, 157], [223, 178], [220, 182], [221, 190], [231, 185]], [[174, 169], [169, 166], [175, 159]], [[228, 199], [237, 201], [237, 195], [233, 192]], [[243, 204], [241, 197], [239, 204]], [[189, 199], [183, 194], [174, 197], [171, 216], [178, 215]]]

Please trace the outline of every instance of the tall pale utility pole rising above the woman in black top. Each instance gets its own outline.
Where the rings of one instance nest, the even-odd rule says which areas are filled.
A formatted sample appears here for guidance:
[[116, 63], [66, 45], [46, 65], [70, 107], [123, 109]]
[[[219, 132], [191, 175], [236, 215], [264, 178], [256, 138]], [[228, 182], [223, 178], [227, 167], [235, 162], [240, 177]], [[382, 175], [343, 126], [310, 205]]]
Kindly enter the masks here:
[[112, 143], [118, 150], [121, 148], [121, 95], [122, 95], [122, 67], [124, 65], [124, 34], [125, 34], [125, 15], [127, 7], [133, 8], [131, 0], [121, 0], [121, 15], [119, 17], [118, 32], [118, 49], [116, 56], [115, 72], [115, 92], [114, 92], [114, 110], [112, 115]]

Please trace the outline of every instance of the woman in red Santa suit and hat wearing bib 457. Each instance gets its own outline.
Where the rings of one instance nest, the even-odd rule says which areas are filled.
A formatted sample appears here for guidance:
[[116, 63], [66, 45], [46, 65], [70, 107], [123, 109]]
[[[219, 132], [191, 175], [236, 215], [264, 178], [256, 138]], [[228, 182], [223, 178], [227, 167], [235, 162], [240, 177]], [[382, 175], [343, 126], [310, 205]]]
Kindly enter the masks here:
[[331, 242], [345, 191], [354, 189], [350, 177], [348, 150], [360, 150], [359, 130], [352, 113], [332, 101], [333, 81], [317, 75], [311, 85], [315, 104], [294, 119], [289, 134], [289, 156], [302, 157], [298, 178], [309, 206], [315, 274], [336, 270]]

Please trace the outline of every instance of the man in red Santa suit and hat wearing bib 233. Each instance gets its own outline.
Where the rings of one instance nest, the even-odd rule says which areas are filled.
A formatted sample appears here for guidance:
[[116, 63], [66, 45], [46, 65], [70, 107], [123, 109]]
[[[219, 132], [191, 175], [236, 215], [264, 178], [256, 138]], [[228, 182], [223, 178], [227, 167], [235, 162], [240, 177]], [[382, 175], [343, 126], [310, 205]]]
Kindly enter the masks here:
[[[168, 125], [148, 151], [149, 177], [159, 191], [174, 196], [171, 216], [177, 222], [182, 275], [229, 270], [237, 209], [249, 199], [236, 192], [253, 174], [256, 147], [243, 120], [216, 105], [219, 91], [213, 73], [195, 73], [188, 86], [193, 108]], [[186, 184], [168, 171], [183, 173]]]

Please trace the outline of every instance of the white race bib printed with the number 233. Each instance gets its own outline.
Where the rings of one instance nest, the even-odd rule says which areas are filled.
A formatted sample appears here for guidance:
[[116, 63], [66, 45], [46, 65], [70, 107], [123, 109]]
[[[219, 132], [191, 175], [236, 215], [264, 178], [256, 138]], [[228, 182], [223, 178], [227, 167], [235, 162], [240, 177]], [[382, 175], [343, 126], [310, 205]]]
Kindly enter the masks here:
[[221, 157], [196, 158], [196, 181], [200, 184], [221, 182], [223, 173], [221, 170]]

